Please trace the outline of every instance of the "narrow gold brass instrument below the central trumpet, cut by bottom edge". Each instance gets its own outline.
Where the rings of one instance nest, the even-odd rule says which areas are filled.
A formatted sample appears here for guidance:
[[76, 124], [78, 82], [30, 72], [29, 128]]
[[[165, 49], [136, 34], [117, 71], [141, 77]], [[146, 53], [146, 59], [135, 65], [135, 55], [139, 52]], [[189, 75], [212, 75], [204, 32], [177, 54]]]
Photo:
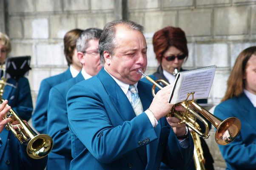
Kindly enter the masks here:
[[194, 142], [194, 155], [193, 160], [196, 167], [196, 170], [205, 170], [205, 158], [203, 155], [202, 145], [200, 137], [195, 131], [191, 130], [191, 136]]

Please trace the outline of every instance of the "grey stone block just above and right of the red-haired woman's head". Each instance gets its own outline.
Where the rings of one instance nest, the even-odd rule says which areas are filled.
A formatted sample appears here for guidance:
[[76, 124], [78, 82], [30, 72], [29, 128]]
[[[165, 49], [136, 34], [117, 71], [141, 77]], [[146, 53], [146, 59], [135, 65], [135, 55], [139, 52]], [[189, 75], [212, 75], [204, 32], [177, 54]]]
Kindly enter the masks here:
[[186, 36], [210, 36], [211, 18], [211, 9], [179, 11], [178, 26], [185, 31]]

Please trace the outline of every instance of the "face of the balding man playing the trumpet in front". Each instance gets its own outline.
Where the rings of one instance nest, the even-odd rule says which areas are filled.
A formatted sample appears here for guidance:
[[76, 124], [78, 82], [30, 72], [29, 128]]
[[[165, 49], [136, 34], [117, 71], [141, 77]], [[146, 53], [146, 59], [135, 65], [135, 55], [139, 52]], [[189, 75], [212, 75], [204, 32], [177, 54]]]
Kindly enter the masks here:
[[137, 70], [147, 67], [147, 43], [144, 35], [127, 28], [117, 26], [115, 35], [115, 54], [110, 56], [104, 51], [104, 67], [114, 77], [126, 84], [135, 84], [141, 79], [141, 74]]

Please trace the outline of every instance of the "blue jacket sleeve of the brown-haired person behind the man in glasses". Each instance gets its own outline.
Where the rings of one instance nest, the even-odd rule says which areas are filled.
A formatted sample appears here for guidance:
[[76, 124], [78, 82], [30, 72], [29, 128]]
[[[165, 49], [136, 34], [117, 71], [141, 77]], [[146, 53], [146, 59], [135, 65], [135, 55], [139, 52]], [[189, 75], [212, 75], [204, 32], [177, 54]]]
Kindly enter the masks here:
[[47, 133], [47, 105], [51, 86], [43, 80], [37, 96], [36, 108], [32, 115], [32, 125], [39, 133]]

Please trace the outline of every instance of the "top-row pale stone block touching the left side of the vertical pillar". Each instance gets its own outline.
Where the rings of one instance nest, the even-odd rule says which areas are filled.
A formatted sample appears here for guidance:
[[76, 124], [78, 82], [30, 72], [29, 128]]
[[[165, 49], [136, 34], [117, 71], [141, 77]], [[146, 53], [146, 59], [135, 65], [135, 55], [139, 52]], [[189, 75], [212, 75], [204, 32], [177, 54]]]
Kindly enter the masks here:
[[91, 0], [91, 10], [114, 9], [114, 0]]

